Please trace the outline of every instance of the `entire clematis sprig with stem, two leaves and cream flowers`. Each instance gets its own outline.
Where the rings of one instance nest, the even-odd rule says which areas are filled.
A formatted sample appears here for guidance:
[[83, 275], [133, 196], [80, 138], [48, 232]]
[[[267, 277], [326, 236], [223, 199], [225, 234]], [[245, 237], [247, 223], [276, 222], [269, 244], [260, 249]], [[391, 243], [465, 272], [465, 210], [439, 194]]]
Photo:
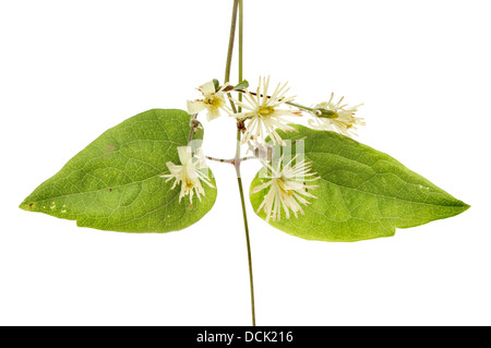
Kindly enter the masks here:
[[[188, 110], [153, 109], [109, 129], [43, 182], [20, 205], [76, 220], [77, 226], [120, 232], [169, 232], [197, 223], [212, 209], [217, 185], [206, 160], [235, 166], [247, 237], [252, 324], [255, 307], [246, 199], [240, 175], [261, 161], [252, 180], [255, 214], [289, 235], [348, 242], [394, 236], [396, 228], [447, 218], [469, 205], [391, 156], [352, 137], [364, 125], [334, 94], [312, 107], [288, 94], [287, 83], [242, 76], [242, 0], [233, 0], [223, 84], [197, 87]], [[230, 64], [239, 19], [239, 81]], [[337, 101], [335, 101], [337, 100]], [[199, 120], [206, 116], [206, 124]], [[236, 155], [216, 158], [201, 147], [204, 128], [225, 117], [237, 124]], [[306, 119], [309, 127], [296, 124]], [[242, 152], [246, 151], [244, 156]]]

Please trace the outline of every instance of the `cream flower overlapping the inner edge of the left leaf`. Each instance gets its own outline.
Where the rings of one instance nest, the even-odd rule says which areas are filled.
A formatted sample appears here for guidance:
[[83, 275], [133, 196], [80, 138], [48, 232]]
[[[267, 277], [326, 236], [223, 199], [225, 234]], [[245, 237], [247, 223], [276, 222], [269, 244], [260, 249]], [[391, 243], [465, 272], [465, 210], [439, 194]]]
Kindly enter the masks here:
[[[193, 194], [196, 193], [197, 199], [201, 202], [200, 194], [205, 195], [201, 181], [205, 182], [208, 187], [215, 188], [207, 176], [207, 168], [205, 159], [201, 148], [195, 151], [195, 156], [192, 155], [191, 146], [178, 146], [179, 160], [181, 165], [175, 165], [168, 161], [167, 168], [170, 173], [161, 175], [160, 178], [168, 178], [166, 180], [176, 179], [171, 190], [176, 188], [178, 183], [181, 183], [181, 193], [179, 194], [179, 203], [184, 195], [189, 194], [189, 200], [192, 203]], [[194, 190], [194, 192], [193, 192]]]

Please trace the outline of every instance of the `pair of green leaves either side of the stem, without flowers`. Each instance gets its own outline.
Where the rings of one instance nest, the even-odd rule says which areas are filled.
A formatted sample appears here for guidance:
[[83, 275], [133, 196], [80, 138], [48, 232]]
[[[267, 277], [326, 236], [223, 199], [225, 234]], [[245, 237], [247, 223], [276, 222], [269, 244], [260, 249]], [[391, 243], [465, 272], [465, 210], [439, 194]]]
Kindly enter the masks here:
[[[160, 175], [179, 164], [177, 146], [188, 143], [190, 116], [149, 110], [106, 131], [41, 183], [21, 208], [76, 220], [77, 226], [124, 232], [168, 232], [200, 220], [213, 206], [216, 189], [204, 185], [202, 202], [179, 203]], [[320, 175], [299, 218], [270, 221], [304, 239], [356, 241], [393, 236], [395, 228], [457, 215], [468, 205], [454, 199], [386, 154], [333, 132], [295, 125], [283, 139], [304, 140], [304, 156]], [[202, 139], [199, 131], [195, 139]], [[261, 173], [261, 172], [260, 172]], [[262, 183], [261, 175], [252, 187]], [[212, 175], [212, 182], [215, 184]], [[215, 184], [216, 187], [216, 184]], [[266, 191], [251, 194], [256, 209]], [[258, 212], [265, 218], [264, 212]]]

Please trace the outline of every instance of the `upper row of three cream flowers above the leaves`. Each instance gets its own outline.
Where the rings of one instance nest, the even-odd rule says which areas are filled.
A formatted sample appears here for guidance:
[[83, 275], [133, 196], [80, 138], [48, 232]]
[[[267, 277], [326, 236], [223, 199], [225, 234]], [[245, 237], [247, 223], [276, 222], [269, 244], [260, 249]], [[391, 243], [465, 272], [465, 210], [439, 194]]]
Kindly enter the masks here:
[[[216, 84], [211, 81], [199, 87], [203, 94], [203, 99], [188, 100], [188, 111], [190, 113], [197, 113], [207, 110], [208, 121], [220, 116], [220, 110], [227, 112], [228, 116], [236, 118], [243, 124], [242, 144], [253, 141], [255, 143], [263, 143], [268, 136], [273, 144], [280, 144], [285, 146], [277, 130], [284, 132], [296, 131], [288, 124], [285, 117], [299, 117], [302, 112], [308, 112], [312, 119], [308, 120], [311, 128], [324, 131], [337, 131], [347, 136], [354, 136], [356, 133], [356, 125], [364, 125], [363, 119], [355, 117], [358, 108], [362, 105], [348, 107], [343, 104], [344, 97], [337, 103], [334, 103], [334, 93], [331, 94], [328, 101], [322, 101], [309, 108], [299, 104], [295, 104], [294, 96], [286, 96], [289, 88], [287, 83], [278, 84], [273, 94], [268, 95], [270, 77], [259, 79], [258, 88], [255, 92], [248, 89], [235, 89], [228, 83], [225, 83], [218, 88]], [[230, 91], [241, 93], [244, 100], [238, 100], [227, 94]], [[229, 101], [242, 109], [241, 112], [233, 112], [227, 105]], [[297, 109], [291, 109], [296, 107]]]

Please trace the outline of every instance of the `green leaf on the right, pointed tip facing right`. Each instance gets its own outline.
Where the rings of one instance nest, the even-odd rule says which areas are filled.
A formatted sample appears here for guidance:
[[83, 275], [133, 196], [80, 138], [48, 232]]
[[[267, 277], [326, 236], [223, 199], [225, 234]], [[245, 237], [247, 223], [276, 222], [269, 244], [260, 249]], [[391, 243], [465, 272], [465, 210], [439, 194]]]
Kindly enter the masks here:
[[[427, 179], [409, 170], [391, 156], [347, 136], [295, 125], [298, 132], [278, 131], [292, 141], [291, 154], [304, 139], [304, 158], [321, 179], [309, 190], [318, 199], [303, 206], [304, 216], [270, 220], [287, 233], [322, 241], [358, 241], [394, 236], [396, 228], [407, 228], [451, 217], [469, 208]], [[298, 143], [296, 142], [298, 141]], [[264, 182], [262, 171], [252, 189]], [[251, 193], [255, 211], [268, 190]], [[265, 219], [261, 209], [258, 215]]]

